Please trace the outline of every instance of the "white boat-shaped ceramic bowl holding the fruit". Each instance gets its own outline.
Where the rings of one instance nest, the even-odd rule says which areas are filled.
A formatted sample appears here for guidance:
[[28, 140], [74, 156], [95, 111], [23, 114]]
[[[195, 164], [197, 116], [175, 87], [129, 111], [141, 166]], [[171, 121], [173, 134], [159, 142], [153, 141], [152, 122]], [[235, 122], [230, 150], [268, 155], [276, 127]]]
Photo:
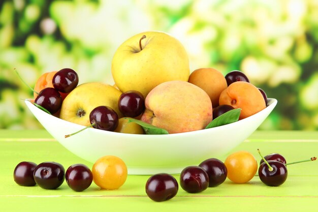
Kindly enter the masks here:
[[64, 136], [83, 126], [49, 115], [28, 101], [25, 104], [59, 143], [80, 158], [94, 163], [102, 156], [114, 155], [125, 162], [129, 174], [174, 174], [205, 159], [223, 156], [243, 142], [276, 106], [276, 99], [268, 100], [268, 106], [255, 115], [206, 130], [135, 135], [89, 128], [69, 138]]

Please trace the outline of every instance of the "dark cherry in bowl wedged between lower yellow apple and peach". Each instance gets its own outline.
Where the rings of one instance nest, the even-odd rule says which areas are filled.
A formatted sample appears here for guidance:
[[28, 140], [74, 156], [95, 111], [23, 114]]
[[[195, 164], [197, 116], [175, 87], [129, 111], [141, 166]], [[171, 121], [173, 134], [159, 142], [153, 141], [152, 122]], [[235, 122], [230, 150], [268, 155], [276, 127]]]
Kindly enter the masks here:
[[118, 109], [124, 116], [137, 117], [145, 110], [145, 98], [137, 90], [129, 90], [120, 95]]

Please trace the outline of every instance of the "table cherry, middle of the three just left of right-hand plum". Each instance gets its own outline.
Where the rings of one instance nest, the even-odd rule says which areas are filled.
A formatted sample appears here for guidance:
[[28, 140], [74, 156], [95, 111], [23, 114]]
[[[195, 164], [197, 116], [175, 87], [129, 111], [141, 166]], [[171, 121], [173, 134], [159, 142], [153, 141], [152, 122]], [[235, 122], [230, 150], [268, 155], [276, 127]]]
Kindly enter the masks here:
[[185, 167], [180, 174], [180, 186], [188, 193], [199, 193], [209, 187], [209, 176], [200, 166]]

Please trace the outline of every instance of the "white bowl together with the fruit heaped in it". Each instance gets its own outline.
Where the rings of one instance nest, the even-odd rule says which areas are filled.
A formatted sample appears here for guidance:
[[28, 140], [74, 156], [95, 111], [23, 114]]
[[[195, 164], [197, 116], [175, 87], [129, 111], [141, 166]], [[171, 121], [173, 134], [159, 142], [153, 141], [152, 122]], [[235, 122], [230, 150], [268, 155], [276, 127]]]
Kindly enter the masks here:
[[[244, 82], [235, 77], [242, 76], [239, 72], [229, 86], [215, 69], [198, 69], [203, 71], [189, 80], [188, 63], [178, 40], [165, 33], [146, 32], [117, 49], [112, 60], [117, 88], [86, 82], [75, 83], [70, 91], [65, 89], [69, 84], [63, 83], [69, 76], [60, 71], [55, 75], [65, 80], [53, 77], [52, 84], [69, 93], [59, 115], [46, 113], [30, 101], [25, 103], [58, 142], [87, 161], [111, 155], [125, 162], [129, 174], [180, 173], [184, 167], [228, 153], [255, 131], [277, 104], [268, 99], [266, 105], [257, 87], [248, 79]], [[216, 76], [222, 83], [203, 86]], [[238, 86], [242, 83], [244, 86]], [[213, 108], [224, 104], [233, 109], [218, 108], [218, 117], [212, 119]], [[244, 116], [238, 121], [240, 114]], [[126, 118], [120, 119], [123, 116], [130, 117], [127, 125], [123, 122]], [[142, 130], [136, 125], [128, 127], [131, 122]], [[98, 127], [109, 124], [111, 127]]]

